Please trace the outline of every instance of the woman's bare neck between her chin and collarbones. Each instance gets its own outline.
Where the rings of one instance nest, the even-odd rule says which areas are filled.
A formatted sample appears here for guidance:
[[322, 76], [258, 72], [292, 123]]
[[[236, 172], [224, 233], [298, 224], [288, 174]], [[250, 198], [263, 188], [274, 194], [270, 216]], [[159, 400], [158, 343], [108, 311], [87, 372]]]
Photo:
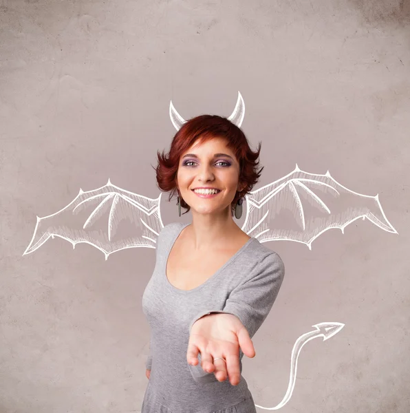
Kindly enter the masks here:
[[192, 224], [187, 230], [197, 251], [215, 249], [243, 232], [233, 220], [230, 209], [215, 215], [192, 211]]

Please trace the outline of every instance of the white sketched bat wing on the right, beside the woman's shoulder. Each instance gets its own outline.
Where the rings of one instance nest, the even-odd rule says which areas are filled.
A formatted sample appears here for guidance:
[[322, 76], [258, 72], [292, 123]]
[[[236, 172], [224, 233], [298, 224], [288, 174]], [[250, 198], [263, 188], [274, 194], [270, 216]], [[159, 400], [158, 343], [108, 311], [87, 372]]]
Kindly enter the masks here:
[[387, 220], [378, 195], [350, 191], [330, 176], [294, 171], [246, 195], [242, 231], [259, 242], [290, 240], [312, 242], [325, 231], [341, 229], [362, 218], [381, 229], [397, 233]]

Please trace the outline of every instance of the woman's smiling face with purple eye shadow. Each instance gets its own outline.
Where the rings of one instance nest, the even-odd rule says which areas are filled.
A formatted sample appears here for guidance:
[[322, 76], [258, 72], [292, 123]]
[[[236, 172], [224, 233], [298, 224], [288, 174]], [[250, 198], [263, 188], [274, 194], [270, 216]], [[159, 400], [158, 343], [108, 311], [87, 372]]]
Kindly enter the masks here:
[[193, 213], [230, 211], [235, 194], [244, 185], [239, 185], [239, 162], [226, 140], [213, 138], [200, 145], [195, 142], [182, 153], [177, 188]]

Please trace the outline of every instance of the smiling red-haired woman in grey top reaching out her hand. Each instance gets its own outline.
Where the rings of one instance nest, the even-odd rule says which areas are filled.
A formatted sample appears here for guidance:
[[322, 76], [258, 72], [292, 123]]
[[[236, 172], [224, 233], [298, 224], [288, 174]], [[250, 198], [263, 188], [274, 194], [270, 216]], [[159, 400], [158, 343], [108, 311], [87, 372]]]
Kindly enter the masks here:
[[[164, 226], [142, 308], [151, 328], [142, 413], [253, 413], [241, 359], [277, 297], [277, 253], [233, 220], [257, 182], [257, 152], [226, 118], [203, 115], [158, 152], [158, 187], [192, 223]], [[181, 214], [181, 213], [180, 213]], [[199, 357], [199, 360], [198, 360]]]

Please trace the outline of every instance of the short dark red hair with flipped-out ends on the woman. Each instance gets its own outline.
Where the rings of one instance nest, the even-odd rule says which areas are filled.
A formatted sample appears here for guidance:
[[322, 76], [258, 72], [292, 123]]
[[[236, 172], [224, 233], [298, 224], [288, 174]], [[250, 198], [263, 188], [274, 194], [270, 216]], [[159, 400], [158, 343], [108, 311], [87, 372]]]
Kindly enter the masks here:
[[[237, 200], [250, 192], [257, 183], [263, 169], [261, 167], [259, 171], [257, 170], [259, 165], [257, 158], [259, 158], [261, 151], [261, 143], [259, 142], [257, 151], [253, 152], [250, 150], [244, 132], [227, 118], [217, 115], [196, 116], [186, 121], [177, 131], [168, 154], [165, 154], [164, 151], [162, 153], [157, 152], [158, 166], [155, 168], [157, 183], [162, 191], [171, 191], [169, 201], [177, 192], [176, 177], [182, 153], [187, 151], [197, 140], [206, 142], [213, 138], [224, 138], [227, 141], [226, 145], [235, 153], [239, 162], [239, 182], [246, 184], [243, 191], [235, 194], [232, 209], [235, 209]], [[191, 209], [181, 197], [180, 202], [181, 207], [185, 208], [186, 212]]]

